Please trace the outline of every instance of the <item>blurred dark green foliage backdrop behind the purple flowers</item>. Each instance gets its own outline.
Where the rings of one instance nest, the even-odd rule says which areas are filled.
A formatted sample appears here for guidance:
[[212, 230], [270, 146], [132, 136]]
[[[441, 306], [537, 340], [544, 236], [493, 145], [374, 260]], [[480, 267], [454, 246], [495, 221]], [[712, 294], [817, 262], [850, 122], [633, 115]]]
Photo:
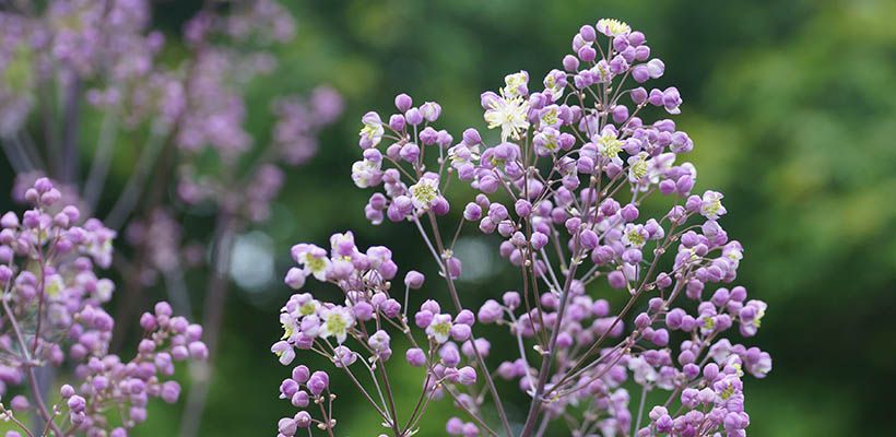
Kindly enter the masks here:
[[[153, 4], [153, 25], [176, 46], [200, 2]], [[644, 32], [653, 56], [665, 62], [665, 75], [656, 86], [681, 90], [684, 105], [675, 120], [695, 141], [689, 158], [699, 172], [697, 189], [726, 193], [729, 214], [722, 224], [746, 249], [739, 282], [769, 305], [763, 329], [751, 341], [771, 353], [774, 370], [765, 380], [747, 379], [750, 433], [839, 436], [892, 428], [896, 2], [283, 4], [296, 17], [297, 36], [273, 49], [279, 66], [271, 75], [249, 83], [247, 130], [263, 138], [272, 125], [272, 97], [318, 84], [339, 91], [345, 110], [322, 131], [318, 154], [287, 173], [270, 218], [236, 239], [231, 265], [235, 287], [201, 435], [268, 435], [292, 411], [276, 399], [287, 370], [269, 352], [281, 334], [278, 311], [291, 294], [281, 282], [292, 264], [291, 245], [323, 246], [330, 234], [353, 229], [362, 247], [389, 245], [401, 271], [434, 273], [424, 246], [406, 226], [372, 226], [364, 220], [370, 192], [355, 188], [350, 178], [351, 164], [359, 156], [361, 116], [367, 110], [389, 114], [393, 96], [405, 92], [416, 103], [439, 102], [441, 126], [452, 133], [483, 128], [481, 92], [499, 86], [506, 73], [522, 69], [540, 79], [559, 68], [579, 26], [600, 17], [617, 17]], [[83, 153], [89, 158], [91, 150]], [[128, 176], [115, 168], [111, 186]], [[0, 170], [0, 188], [10, 192], [12, 170], [5, 163]], [[2, 199], [8, 203], [7, 196]], [[13, 208], [7, 203], [4, 209]], [[98, 210], [109, 206], [101, 202]], [[456, 204], [452, 214], [458, 210]], [[202, 235], [208, 227], [199, 216], [186, 232]], [[476, 307], [514, 286], [495, 241], [461, 243], [460, 257], [478, 261], [464, 263], [467, 305]], [[193, 274], [186, 279], [189, 293], [201, 302], [203, 273]], [[157, 295], [146, 302], [165, 297], [161, 288], [152, 293]], [[444, 291], [434, 285], [422, 293]], [[496, 346], [493, 355], [500, 351]], [[408, 398], [418, 393], [415, 371], [402, 373], [399, 381]], [[339, 435], [370, 435], [377, 421], [351, 387], [337, 382], [335, 392]], [[182, 405], [160, 403], [135, 434], [176, 435], [181, 411]], [[435, 405], [431, 417], [438, 421], [427, 422], [421, 435], [441, 435], [452, 411], [448, 402]]]

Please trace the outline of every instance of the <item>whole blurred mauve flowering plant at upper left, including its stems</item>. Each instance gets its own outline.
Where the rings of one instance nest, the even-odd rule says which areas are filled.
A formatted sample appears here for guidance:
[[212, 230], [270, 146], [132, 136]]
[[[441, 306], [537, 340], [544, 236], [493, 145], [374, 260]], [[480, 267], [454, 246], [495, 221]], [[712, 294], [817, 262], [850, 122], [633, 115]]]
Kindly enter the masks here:
[[[111, 350], [140, 330], [140, 296], [156, 285], [178, 312], [193, 312], [186, 276], [198, 271], [213, 357], [234, 241], [269, 217], [284, 168], [316, 153], [342, 101], [328, 86], [279, 96], [270, 134], [254, 138], [246, 86], [275, 68], [270, 48], [295, 36], [288, 10], [275, 0], [203, 1], [173, 45], [152, 14], [149, 0], [0, 1], [0, 145], [15, 200], [28, 201], [47, 177], [63, 202], [102, 214], [127, 243], [113, 264], [123, 281]], [[85, 132], [96, 135], [87, 142]], [[123, 154], [135, 158], [113, 166], [126, 138], [134, 144]], [[107, 184], [116, 169], [127, 176], [118, 187]], [[208, 244], [184, 235], [181, 223], [210, 211]], [[198, 433], [210, 380], [205, 363], [193, 369], [185, 436]]]

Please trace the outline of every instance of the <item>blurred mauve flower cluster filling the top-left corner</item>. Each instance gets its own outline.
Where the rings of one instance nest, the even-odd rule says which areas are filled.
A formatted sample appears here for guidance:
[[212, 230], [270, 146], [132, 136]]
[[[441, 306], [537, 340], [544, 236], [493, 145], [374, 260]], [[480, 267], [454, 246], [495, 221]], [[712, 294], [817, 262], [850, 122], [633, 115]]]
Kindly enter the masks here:
[[[51, 1], [42, 12], [0, 13], [0, 40], [4, 49], [11, 49], [5, 71], [11, 80], [0, 81], [0, 93], [16, 96], [10, 101], [14, 105], [0, 109], [0, 118], [5, 120], [0, 132], [15, 133], [31, 111], [39, 86], [50, 80], [68, 86], [102, 78], [86, 95], [91, 104], [111, 107], [127, 102], [126, 118], [131, 122], [144, 118], [151, 104], [148, 97], [163, 79], [155, 72], [155, 57], [164, 36], [148, 31], [150, 4], [128, 0], [108, 4]], [[152, 79], [154, 85], [139, 84], [146, 79]]]

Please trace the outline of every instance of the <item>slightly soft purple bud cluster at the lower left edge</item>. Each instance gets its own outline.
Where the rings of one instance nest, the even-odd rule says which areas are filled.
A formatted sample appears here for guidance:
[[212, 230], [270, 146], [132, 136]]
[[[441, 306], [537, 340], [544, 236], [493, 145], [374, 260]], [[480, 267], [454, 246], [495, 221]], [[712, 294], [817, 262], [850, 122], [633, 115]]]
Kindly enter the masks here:
[[[28, 381], [28, 395], [13, 398], [11, 406], [46, 421], [42, 435], [63, 435], [60, 429], [67, 426], [57, 423], [57, 415], [68, 413], [70, 434], [123, 437], [145, 421], [150, 398], [177, 400], [174, 365], [208, 356], [202, 328], [160, 303], [154, 314], [140, 319], [145, 336], [137, 356], [122, 361], [110, 353], [115, 321], [103, 305], [115, 284], [98, 277], [94, 268], [111, 263], [115, 232], [95, 218], [82, 221], [73, 205], [60, 205], [60, 191], [46, 178], [37, 179], [24, 198], [32, 209], [0, 217], [0, 341], [5, 345], [0, 393]], [[74, 365], [73, 385], [62, 386], [61, 403], [48, 405], [35, 369], [60, 367], [67, 358]], [[110, 409], [121, 416], [113, 420]], [[7, 417], [14, 414], [7, 412]]]

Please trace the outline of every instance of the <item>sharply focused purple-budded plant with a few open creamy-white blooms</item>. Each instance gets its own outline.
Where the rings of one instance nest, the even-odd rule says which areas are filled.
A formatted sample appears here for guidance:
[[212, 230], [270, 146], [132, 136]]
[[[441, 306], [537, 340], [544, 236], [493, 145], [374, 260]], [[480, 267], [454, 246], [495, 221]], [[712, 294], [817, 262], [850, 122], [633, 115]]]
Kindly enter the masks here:
[[[418, 233], [450, 298], [409, 308], [424, 275], [409, 270], [394, 282], [391, 251], [358, 248], [351, 232], [333, 235], [329, 250], [294, 246], [285, 283], [302, 290], [317, 280], [342, 298], [306, 291], [281, 310], [280, 362], [317, 354], [333, 368], [298, 365], [283, 380], [281, 398], [298, 412], [279, 422], [280, 437], [335, 435], [331, 375], [352, 381], [384, 435], [415, 434], [444, 398], [462, 412], [445, 425], [457, 436], [746, 434], [743, 378], [765, 377], [771, 358], [733, 332], [755, 335], [766, 304], [733, 285], [743, 248], [719, 223], [722, 194], [694, 193], [697, 172], [683, 161], [692, 140], [671, 119], [642, 118], [679, 114], [679, 91], [641, 86], [665, 66], [623, 22], [582, 26], [573, 52], [541, 83], [521, 71], [482, 94], [484, 119], [500, 134], [491, 144], [476, 129], [456, 140], [435, 127], [437, 103], [414, 106], [405, 94], [388, 118], [364, 115], [352, 179], [377, 189], [366, 217]], [[478, 193], [457, 231], [443, 234], [452, 181]], [[650, 197], [671, 206], [649, 216]], [[519, 271], [517, 290], [478, 308], [457, 283], [463, 222], [497, 234], [500, 256]], [[613, 295], [624, 304], [611, 305]], [[491, 356], [496, 339], [479, 335], [480, 324], [503, 327], [508, 336], [497, 340], [516, 355]], [[422, 369], [411, 411], [397, 411], [393, 355]], [[498, 378], [529, 399], [526, 415], [508, 414]]]

